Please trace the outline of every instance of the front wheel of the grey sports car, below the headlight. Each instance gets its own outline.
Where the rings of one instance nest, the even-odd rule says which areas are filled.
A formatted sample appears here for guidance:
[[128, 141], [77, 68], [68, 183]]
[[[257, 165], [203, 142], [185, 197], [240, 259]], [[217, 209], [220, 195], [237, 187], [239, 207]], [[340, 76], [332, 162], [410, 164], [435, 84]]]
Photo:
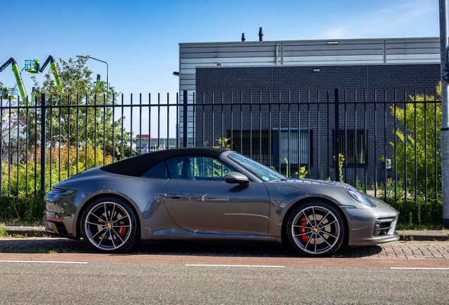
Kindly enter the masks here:
[[340, 249], [345, 223], [329, 203], [314, 201], [295, 208], [287, 219], [289, 244], [302, 256], [325, 257]]

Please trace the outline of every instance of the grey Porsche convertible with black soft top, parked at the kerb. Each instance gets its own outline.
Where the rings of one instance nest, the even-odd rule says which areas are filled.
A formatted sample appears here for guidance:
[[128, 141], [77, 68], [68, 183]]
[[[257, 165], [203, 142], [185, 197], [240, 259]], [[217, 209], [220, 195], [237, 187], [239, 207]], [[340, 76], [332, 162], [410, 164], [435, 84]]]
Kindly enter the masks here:
[[288, 241], [303, 256], [399, 239], [398, 213], [348, 184], [287, 179], [232, 150], [178, 148], [90, 169], [45, 197], [47, 232], [120, 253], [139, 241]]

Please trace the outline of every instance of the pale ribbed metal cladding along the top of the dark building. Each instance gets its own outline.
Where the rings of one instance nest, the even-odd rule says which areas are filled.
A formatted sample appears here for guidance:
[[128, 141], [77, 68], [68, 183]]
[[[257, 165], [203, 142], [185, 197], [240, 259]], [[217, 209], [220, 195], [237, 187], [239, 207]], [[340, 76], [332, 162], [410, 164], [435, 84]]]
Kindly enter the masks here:
[[[338, 42], [329, 44], [328, 42]], [[195, 90], [197, 67], [434, 64], [440, 60], [438, 37], [373, 40], [301, 40], [179, 44], [179, 90]]]

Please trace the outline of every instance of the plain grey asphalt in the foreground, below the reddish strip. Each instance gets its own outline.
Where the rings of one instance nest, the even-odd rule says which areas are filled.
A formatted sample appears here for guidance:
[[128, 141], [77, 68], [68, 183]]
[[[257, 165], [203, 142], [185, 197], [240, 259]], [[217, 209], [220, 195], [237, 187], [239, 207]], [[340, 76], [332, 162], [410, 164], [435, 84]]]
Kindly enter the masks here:
[[2, 304], [448, 304], [449, 269], [0, 263]]

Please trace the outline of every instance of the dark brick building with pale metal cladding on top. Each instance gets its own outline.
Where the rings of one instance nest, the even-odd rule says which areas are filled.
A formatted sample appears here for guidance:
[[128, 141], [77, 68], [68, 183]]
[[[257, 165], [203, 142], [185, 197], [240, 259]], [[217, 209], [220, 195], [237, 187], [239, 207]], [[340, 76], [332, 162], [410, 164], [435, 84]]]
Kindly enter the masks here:
[[323, 179], [335, 175], [338, 140], [345, 181], [383, 181], [400, 128], [391, 107], [435, 94], [438, 56], [433, 38], [181, 44], [180, 90], [196, 104], [191, 139], [231, 138], [232, 149], [266, 165], [291, 176], [301, 165]]

